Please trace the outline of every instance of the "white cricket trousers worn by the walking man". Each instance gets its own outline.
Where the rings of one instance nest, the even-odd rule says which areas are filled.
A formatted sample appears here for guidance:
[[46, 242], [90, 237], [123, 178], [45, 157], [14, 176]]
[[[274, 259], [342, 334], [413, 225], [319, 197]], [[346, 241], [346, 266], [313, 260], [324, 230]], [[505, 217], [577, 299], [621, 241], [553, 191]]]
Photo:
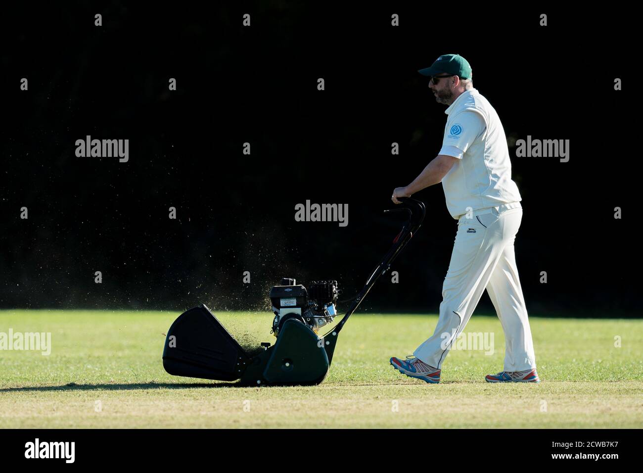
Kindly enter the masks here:
[[504, 371], [536, 367], [527, 308], [514, 255], [514, 239], [522, 220], [520, 203], [462, 216], [453, 244], [451, 263], [442, 286], [440, 317], [435, 332], [413, 353], [424, 363], [441, 368], [487, 289], [505, 333]]

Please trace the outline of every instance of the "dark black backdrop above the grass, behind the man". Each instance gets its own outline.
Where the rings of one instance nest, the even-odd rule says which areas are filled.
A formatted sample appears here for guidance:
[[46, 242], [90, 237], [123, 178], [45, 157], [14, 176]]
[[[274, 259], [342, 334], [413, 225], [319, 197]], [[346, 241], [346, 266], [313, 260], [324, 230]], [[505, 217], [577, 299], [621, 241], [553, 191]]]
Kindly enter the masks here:
[[[417, 70], [459, 53], [510, 142], [570, 140], [566, 163], [510, 148], [530, 315], [639, 315], [633, 30], [617, 12], [112, 1], [2, 23], [1, 307], [262, 309], [281, 277], [352, 295], [399, 230], [382, 213], [392, 190], [442, 143], [446, 107]], [[129, 162], [77, 158], [87, 134], [129, 139]], [[437, 312], [457, 223], [441, 185], [414, 197], [427, 216], [392, 268], [400, 282], [378, 281], [363, 310]], [[348, 203], [348, 227], [294, 221], [307, 199]]]

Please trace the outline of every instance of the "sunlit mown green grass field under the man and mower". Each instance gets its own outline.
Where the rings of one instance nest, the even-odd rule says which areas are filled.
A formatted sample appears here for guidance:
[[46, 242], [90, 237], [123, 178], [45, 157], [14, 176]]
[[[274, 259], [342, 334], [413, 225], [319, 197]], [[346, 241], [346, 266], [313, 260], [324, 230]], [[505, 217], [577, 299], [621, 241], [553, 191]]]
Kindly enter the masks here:
[[[237, 337], [274, 342], [271, 313], [214, 312]], [[493, 353], [452, 350], [430, 385], [388, 359], [410, 355], [437, 316], [356, 314], [323, 384], [235, 387], [165, 373], [163, 333], [177, 315], [0, 311], [0, 332], [51, 332], [48, 356], [0, 351], [0, 427], [643, 426], [643, 320], [532, 317], [541, 382], [487, 384], [505, 342], [497, 317], [474, 315], [465, 333], [493, 333]]]

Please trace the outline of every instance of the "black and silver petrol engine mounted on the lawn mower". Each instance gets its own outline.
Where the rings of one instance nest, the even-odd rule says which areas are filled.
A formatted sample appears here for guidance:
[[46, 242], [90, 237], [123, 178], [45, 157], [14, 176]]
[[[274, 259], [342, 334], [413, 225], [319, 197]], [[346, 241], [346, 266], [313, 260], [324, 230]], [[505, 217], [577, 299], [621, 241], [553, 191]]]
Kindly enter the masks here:
[[275, 337], [288, 319], [296, 319], [317, 331], [330, 324], [337, 314], [335, 304], [340, 291], [337, 281], [312, 281], [308, 290], [294, 279], [285, 277], [280, 286], [270, 290], [270, 302], [275, 319], [272, 333]]

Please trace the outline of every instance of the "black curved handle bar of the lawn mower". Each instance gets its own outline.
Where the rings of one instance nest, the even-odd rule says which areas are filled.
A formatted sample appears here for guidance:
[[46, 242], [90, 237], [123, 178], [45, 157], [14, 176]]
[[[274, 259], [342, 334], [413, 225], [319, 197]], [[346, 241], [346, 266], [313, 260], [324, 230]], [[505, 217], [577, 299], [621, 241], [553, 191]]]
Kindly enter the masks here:
[[[331, 329], [335, 335], [340, 333], [340, 330], [343, 328], [350, 315], [352, 315], [352, 313], [358, 308], [359, 304], [364, 300], [368, 291], [370, 291], [370, 288], [373, 287], [377, 279], [390, 269], [391, 263], [395, 257], [397, 257], [397, 255], [403, 250], [404, 246], [406, 246], [409, 240], [413, 237], [413, 234], [417, 232], [422, 225], [422, 221], [424, 221], [424, 215], [426, 214], [424, 203], [410, 197], [399, 197], [398, 199], [401, 202], [398, 204], [401, 206], [400, 209], [387, 209], [384, 212], [408, 212], [408, 220], [404, 223], [402, 230], [400, 230], [397, 237], [393, 240], [393, 246], [391, 246], [390, 250], [388, 250], [380, 263], [377, 264], [375, 269], [372, 271], [370, 277], [368, 277], [366, 284], [356, 296], [350, 305], [349, 310], [347, 310], [344, 317], [340, 320], [340, 323]], [[326, 333], [324, 337], [327, 337], [331, 331]]]

